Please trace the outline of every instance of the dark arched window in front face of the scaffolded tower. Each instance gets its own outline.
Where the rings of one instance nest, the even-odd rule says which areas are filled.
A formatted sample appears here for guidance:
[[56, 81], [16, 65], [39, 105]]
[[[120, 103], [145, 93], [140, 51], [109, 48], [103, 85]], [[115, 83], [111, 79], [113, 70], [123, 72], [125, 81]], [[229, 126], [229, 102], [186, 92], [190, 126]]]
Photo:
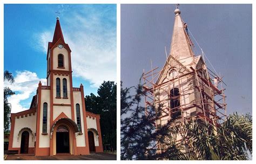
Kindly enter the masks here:
[[179, 108], [180, 106], [179, 97], [180, 97], [179, 89], [178, 88], [171, 89], [170, 105], [171, 105], [171, 110], [173, 112], [173, 115], [172, 115], [173, 118], [176, 118], [181, 115], [180, 108]]

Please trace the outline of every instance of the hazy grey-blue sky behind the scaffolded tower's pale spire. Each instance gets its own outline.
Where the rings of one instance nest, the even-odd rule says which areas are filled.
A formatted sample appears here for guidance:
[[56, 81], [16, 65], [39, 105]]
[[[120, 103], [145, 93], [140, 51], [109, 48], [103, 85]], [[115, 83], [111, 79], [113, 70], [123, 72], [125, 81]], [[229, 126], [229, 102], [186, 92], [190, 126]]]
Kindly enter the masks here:
[[[121, 5], [124, 87], [138, 84], [143, 69], [151, 70], [151, 59], [153, 68], [164, 66], [175, 8], [174, 4]], [[227, 113], [252, 113], [252, 5], [180, 4], [179, 9], [215, 70], [224, 76]]]

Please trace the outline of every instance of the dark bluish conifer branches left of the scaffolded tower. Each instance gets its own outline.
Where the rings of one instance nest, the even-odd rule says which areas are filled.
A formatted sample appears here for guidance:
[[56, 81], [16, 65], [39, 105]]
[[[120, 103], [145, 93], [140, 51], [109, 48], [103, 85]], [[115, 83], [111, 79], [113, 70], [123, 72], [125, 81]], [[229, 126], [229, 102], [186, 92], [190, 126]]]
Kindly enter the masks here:
[[[131, 89], [136, 90], [134, 96], [129, 95]], [[122, 160], [154, 159], [153, 155], [156, 154], [158, 135], [153, 121], [156, 110], [151, 106], [145, 115], [145, 108], [140, 106], [143, 94], [141, 84], [125, 89], [121, 85]]]

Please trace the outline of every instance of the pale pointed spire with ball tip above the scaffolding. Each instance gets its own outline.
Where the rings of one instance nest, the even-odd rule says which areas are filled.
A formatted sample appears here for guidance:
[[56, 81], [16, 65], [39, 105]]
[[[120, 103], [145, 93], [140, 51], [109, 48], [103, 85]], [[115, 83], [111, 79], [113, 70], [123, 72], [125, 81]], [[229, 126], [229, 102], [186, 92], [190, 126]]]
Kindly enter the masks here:
[[175, 20], [170, 54], [174, 56], [174, 58], [180, 60], [193, 56], [193, 52], [190, 46], [190, 39], [188, 38], [186, 27], [180, 17], [180, 10], [177, 8], [174, 10], [174, 13]]

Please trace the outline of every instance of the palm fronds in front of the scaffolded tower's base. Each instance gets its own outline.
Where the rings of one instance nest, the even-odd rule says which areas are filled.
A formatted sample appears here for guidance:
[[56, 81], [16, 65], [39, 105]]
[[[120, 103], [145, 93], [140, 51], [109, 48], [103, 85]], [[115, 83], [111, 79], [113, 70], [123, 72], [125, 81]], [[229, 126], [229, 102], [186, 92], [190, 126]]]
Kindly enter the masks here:
[[[248, 160], [252, 154], [252, 116], [228, 116], [217, 129], [211, 124], [186, 122], [169, 127], [158, 159]], [[177, 136], [181, 140], [177, 141]], [[172, 153], [174, 152], [174, 154]]]

